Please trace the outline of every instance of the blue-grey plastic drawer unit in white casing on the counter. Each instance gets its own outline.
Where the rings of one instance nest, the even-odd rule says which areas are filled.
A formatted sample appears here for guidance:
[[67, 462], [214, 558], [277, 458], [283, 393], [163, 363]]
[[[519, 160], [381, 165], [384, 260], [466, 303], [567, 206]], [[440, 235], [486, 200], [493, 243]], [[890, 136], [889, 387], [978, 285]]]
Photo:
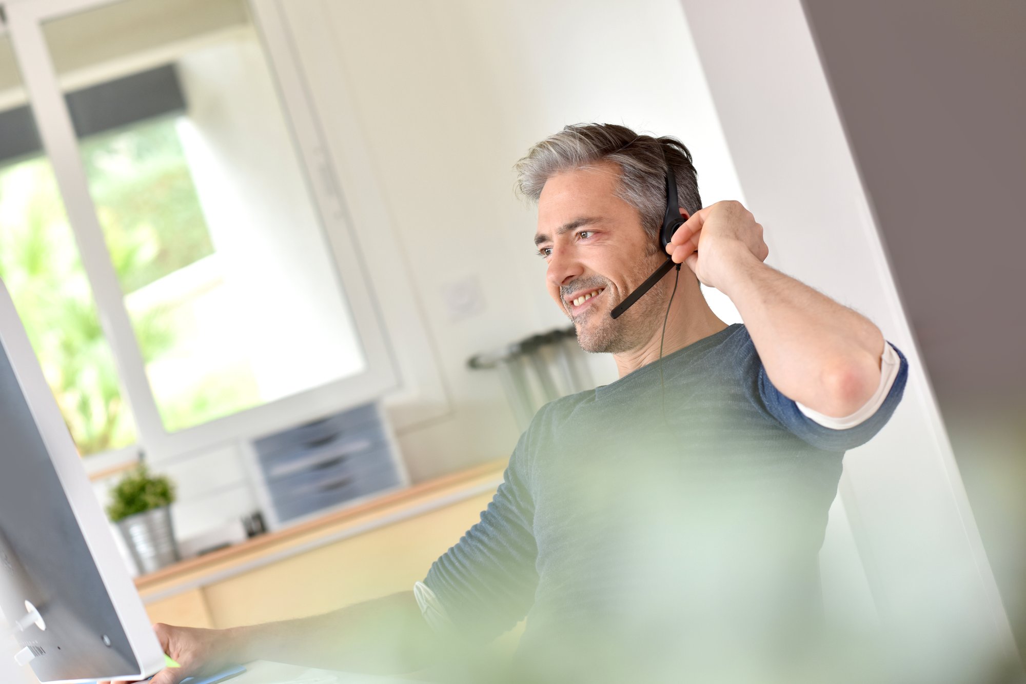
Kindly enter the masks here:
[[408, 484], [377, 404], [266, 435], [247, 460], [272, 529]]

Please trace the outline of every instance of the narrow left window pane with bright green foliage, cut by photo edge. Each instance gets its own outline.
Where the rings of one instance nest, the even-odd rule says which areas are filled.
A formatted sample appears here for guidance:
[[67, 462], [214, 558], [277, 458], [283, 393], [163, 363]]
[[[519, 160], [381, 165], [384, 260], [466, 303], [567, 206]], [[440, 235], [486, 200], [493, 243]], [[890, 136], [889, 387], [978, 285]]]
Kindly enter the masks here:
[[[21, 102], [6, 36], [0, 36], [0, 73], [7, 76], [8, 102]], [[89, 455], [133, 444], [131, 407], [121, 393], [53, 169], [24, 105], [0, 113], [0, 278], [79, 451]]]

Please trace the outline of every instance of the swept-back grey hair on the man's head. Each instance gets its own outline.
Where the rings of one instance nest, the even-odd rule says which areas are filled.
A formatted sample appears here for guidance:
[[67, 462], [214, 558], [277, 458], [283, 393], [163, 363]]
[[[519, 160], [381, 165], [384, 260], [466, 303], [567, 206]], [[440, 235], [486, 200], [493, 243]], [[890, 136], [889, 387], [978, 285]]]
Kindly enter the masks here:
[[641, 225], [654, 238], [666, 210], [667, 165], [677, 179], [677, 203], [688, 215], [702, 208], [698, 172], [683, 143], [669, 135], [641, 135], [613, 123], [573, 124], [535, 145], [513, 167], [516, 189], [538, 202], [545, 183], [556, 173], [604, 161], [620, 167], [617, 197], [638, 210]]

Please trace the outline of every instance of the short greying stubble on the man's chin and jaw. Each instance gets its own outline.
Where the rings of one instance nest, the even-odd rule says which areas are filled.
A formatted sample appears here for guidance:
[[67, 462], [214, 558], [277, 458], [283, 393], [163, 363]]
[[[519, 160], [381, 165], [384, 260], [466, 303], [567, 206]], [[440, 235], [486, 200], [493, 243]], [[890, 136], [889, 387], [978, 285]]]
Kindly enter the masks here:
[[[652, 252], [656, 253], [655, 251]], [[659, 266], [655, 259], [645, 261], [635, 269], [631, 281], [640, 284]], [[606, 292], [610, 292], [605, 285]], [[629, 295], [626, 292], [624, 296]], [[602, 311], [589, 311], [580, 317], [570, 317], [577, 330], [581, 349], [591, 354], [623, 354], [639, 349], [649, 339], [659, 325], [660, 313], [666, 306], [665, 287], [657, 284], [628, 309], [620, 318], [614, 319], [609, 312], [620, 304], [613, 303]]]

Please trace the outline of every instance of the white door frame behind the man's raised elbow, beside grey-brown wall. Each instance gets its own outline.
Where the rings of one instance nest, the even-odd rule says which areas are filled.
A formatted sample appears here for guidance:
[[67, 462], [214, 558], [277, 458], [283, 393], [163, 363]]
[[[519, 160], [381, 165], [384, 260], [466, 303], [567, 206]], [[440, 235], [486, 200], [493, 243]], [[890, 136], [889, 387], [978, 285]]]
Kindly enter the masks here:
[[681, 4], [749, 208], [774, 236], [775, 264], [871, 318], [909, 361], [902, 404], [876, 438], [845, 455], [840, 485], [881, 623], [904, 665], [937, 681], [970, 681], [964, 672], [949, 679], [954, 668], [1017, 662], [800, 0]]

